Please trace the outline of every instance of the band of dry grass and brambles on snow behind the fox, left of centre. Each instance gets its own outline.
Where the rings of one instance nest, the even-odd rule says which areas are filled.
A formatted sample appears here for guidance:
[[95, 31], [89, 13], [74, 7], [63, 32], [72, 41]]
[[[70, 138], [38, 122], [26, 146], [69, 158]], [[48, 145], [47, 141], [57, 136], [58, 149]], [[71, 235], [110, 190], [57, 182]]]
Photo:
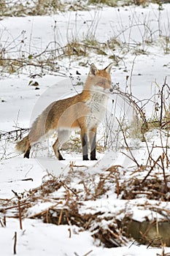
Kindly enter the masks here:
[[[20, 45], [23, 45], [25, 39], [20, 37], [20, 40]], [[61, 71], [63, 69], [61, 64], [63, 59], [69, 58], [76, 61], [78, 60], [81, 66], [87, 66], [88, 59], [93, 54], [108, 56], [109, 59], [112, 59], [115, 61], [115, 64], [118, 65], [122, 59], [116, 58], [115, 56], [113, 57], [112, 55], [110, 56], [110, 51], [114, 50], [115, 47], [111, 41], [112, 40], [106, 43], [98, 42], [97, 39], [93, 39], [89, 35], [85, 39], [77, 38], [69, 40], [66, 45], [59, 45], [58, 42], [50, 42], [47, 47], [38, 54], [35, 54], [34, 51], [27, 53], [23, 49], [19, 51], [15, 49], [17, 54], [15, 58], [9, 57], [10, 50], [4, 46], [0, 48], [0, 72], [1, 75], [20, 74], [24, 72], [29, 72], [30, 75], [32, 75], [35, 72], [39, 74], [39, 76], [49, 73], [66, 76], [64, 72]], [[15, 42], [15, 39], [13, 42]], [[82, 64], [82, 57], [87, 59], [86, 64]]]

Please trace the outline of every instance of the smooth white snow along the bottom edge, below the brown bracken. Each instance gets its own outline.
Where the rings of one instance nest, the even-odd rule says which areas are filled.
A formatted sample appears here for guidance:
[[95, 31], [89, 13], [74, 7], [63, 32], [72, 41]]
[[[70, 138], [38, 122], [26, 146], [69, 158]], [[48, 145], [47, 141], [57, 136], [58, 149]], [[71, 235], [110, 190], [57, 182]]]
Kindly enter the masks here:
[[[69, 231], [69, 229], [71, 231]], [[161, 249], [147, 249], [146, 246], [131, 245], [130, 248], [101, 248], [95, 246], [93, 238], [88, 231], [79, 232], [76, 226], [43, 224], [39, 220], [25, 219], [23, 230], [19, 229], [16, 219], [9, 219], [7, 227], [0, 228], [2, 255], [12, 255], [13, 237], [17, 232], [18, 244], [16, 247], [17, 255], [85, 255], [90, 252], [92, 256], [103, 255], [122, 255], [134, 256], [150, 255], [155, 256], [155, 252], [161, 253]], [[71, 233], [71, 238], [69, 238]], [[3, 245], [3, 247], [2, 247]]]

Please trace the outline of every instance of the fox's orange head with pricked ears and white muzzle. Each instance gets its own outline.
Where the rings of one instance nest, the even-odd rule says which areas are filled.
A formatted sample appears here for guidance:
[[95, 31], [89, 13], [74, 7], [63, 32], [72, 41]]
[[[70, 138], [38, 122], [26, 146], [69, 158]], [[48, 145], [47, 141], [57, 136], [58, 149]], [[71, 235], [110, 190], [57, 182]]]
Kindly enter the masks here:
[[95, 64], [91, 64], [86, 88], [94, 91], [111, 92], [112, 82], [110, 72], [112, 65], [113, 64], [111, 63], [105, 69], [97, 69]]

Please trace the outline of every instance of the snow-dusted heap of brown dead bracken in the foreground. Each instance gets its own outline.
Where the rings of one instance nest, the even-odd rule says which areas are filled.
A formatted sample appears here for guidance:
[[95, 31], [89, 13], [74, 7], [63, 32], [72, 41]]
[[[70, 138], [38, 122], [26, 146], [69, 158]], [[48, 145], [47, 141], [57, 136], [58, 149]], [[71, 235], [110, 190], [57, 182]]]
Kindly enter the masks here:
[[[0, 219], [0, 224], [4, 227], [7, 217], [15, 217], [20, 219], [22, 229], [22, 219], [27, 217], [42, 219], [43, 222], [54, 225], [77, 225], [80, 232], [89, 230], [98, 244], [104, 244], [108, 248], [123, 246], [127, 244], [128, 238], [134, 237], [134, 228], [131, 230], [129, 224], [134, 223], [131, 208], [136, 207], [141, 211], [147, 209], [160, 214], [165, 221], [169, 219], [170, 206], [163, 208], [161, 203], [169, 202], [170, 177], [163, 171], [158, 173], [157, 165], [160, 165], [158, 161], [154, 167], [150, 166], [152, 176], [150, 171], [144, 170], [149, 167], [140, 166], [136, 170], [131, 170], [128, 173], [129, 178], [125, 179], [127, 170], [117, 165], [90, 175], [87, 170], [83, 170], [85, 167], [70, 163], [70, 170], [65, 178], [56, 178], [48, 174], [43, 178], [40, 187], [20, 194], [13, 191], [14, 197], [10, 200], [0, 199], [0, 214], [1, 217], [4, 216]], [[121, 207], [114, 206], [115, 196], [125, 202]], [[143, 203], [140, 203], [140, 198]], [[132, 199], [136, 199], [136, 203], [132, 203]], [[152, 204], [152, 200], [157, 200], [158, 203]], [[102, 208], [100, 202], [103, 202]], [[39, 211], [34, 211], [37, 204]], [[127, 222], [125, 219], [130, 221]], [[161, 219], [155, 221], [159, 223]], [[148, 225], [146, 228], [144, 226], [145, 231]], [[147, 236], [146, 232], [145, 235], [142, 238], [145, 238], [146, 243], [149, 235]], [[163, 239], [163, 242], [167, 241], [166, 237]]]

